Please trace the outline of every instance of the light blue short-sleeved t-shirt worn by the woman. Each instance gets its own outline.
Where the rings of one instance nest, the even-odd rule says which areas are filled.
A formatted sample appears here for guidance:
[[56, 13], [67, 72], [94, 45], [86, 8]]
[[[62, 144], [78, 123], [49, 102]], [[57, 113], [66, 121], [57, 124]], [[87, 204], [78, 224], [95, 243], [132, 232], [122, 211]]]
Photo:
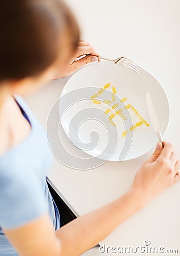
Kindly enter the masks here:
[[31, 131], [0, 157], [0, 255], [3, 256], [18, 254], [2, 229], [26, 225], [44, 213], [49, 214], [55, 230], [60, 228], [60, 215], [46, 182], [52, 154], [45, 131], [23, 99], [15, 98], [31, 124]]

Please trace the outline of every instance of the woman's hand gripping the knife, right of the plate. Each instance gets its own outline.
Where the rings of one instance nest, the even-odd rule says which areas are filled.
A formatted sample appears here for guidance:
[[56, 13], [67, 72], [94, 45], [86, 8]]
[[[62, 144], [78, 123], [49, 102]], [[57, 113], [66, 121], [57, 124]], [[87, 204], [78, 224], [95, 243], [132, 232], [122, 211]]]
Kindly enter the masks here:
[[138, 193], [143, 204], [158, 196], [170, 185], [180, 180], [180, 163], [177, 152], [170, 143], [157, 143], [156, 150], [137, 171], [130, 191]]

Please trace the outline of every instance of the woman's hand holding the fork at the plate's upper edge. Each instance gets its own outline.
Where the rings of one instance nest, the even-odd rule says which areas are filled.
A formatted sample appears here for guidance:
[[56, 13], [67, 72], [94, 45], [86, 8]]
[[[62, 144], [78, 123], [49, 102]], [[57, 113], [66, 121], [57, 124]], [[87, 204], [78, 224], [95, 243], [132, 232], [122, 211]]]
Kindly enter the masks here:
[[82, 39], [79, 40], [77, 51], [74, 56], [72, 56], [72, 59], [70, 59], [69, 64], [66, 65], [66, 67], [63, 67], [63, 70], [57, 72], [56, 76], [53, 77], [53, 79], [64, 78], [77, 71], [77, 69], [83, 67], [83, 65], [95, 61], [100, 61], [98, 56], [99, 53], [95, 51], [90, 43]]

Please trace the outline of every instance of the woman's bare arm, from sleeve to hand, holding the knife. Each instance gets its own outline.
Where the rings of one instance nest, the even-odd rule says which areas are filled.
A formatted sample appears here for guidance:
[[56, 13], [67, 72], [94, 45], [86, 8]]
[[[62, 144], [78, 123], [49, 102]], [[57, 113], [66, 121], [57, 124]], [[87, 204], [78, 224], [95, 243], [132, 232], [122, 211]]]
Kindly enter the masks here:
[[177, 153], [170, 143], [158, 143], [153, 156], [135, 176], [131, 188], [112, 203], [53, 231], [48, 216], [22, 228], [5, 230], [22, 256], [76, 256], [97, 245], [137, 210], [180, 180]]

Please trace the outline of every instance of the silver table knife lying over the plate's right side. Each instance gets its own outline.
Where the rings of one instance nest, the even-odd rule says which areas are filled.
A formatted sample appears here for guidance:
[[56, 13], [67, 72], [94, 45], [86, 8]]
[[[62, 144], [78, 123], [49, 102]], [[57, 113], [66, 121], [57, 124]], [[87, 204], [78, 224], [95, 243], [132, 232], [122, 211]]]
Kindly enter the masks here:
[[153, 106], [152, 98], [151, 98], [150, 93], [148, 91], [146, 91], [146, 107], [148, 109], [149, 119], [150, 119], [150, 122], [152, 124], [152, 127], [153, 127], [154, 131], [156, 131], [158, 139], [162, 143], [162, 147], [163, 147], [164, 144], [163, 144], [161, 129], [160, 129], [160, 126], [158, 124], [157, 115], [156, 115], [156, 112], [155, 112], [155, 109], [154, 109], [154, 106]]

